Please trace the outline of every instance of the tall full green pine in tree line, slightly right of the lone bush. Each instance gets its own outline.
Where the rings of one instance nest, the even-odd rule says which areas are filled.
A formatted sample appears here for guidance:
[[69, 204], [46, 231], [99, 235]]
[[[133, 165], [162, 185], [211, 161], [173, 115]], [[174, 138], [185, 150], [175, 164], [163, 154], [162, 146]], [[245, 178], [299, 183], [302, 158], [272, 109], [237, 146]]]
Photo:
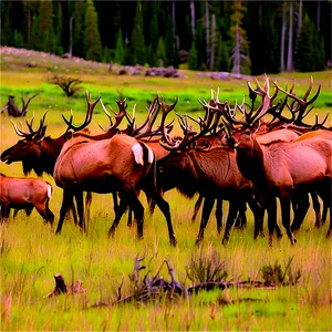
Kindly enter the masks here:
[[86, 1], [84, 19], [84, 51], [85, 59], [100, 61], [102, 53], [102, 42], [98, 32], [97, 13], [92, 0]]

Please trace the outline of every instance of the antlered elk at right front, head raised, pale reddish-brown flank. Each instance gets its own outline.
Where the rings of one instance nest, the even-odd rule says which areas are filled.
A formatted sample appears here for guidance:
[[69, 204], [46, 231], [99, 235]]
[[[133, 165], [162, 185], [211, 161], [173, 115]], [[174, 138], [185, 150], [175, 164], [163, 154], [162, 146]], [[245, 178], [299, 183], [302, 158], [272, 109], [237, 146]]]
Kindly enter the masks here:
[[[234, 112], [224, 112], [228, 125], [234, 127], [227, 143], [230, 148], [237, 149], [237, 163], [242, 175], [259, 188], [264, 198], [268, 210], [269, 245], [272, 246], [273, 230], [277, 224], [277, 197], [281, 204], [282, 225], [291, 243], [294, 243], [295, 238], [290, 227], [291, 196], [297, 196], [301, 193], [300, 190], [307, 193], [318, 190], [324, 201], [330, 198], [331, 207], [332, 142], [315, 136], [299, 142], [278, 142], [266, 146], [260, 144], [256, 137], [259, 120], [271, 110], [276, 110], [277, 106], [272, 105], [272, 101], [281, 89], [274, 83], [276, 90], [273, 95], [270, 96], [269, 79], [267, 76], [264, 77], [263, 87], [259, 85], [258, 81], [257, 84], [257, 90], [249, 87], [251, 110], [249, 112], [245, 107], [241, 110], [245, 120], [237, 120]], [[309, 101], [301, 100], [301, 112], [314, 102], [319, 92], [320, 89]], [[299, 101], [293, 94], [287, 94]], [[261, 96], [261, 103], [255, 110], [253, 103], [257, 95]], [[235, 125], [240, 125], [240, 127], [235, 128]], [[330, 222], [328, 237], [331, 236], [331, 226], [332, 221]]]

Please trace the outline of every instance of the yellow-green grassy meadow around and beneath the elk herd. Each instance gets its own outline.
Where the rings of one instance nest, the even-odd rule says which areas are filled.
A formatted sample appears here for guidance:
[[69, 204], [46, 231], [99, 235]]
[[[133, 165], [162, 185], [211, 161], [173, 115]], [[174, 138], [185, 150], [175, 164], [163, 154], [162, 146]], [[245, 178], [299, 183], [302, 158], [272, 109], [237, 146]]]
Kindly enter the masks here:
[[[34, 56], [34, 58], [33, 58]], [[6, 59], [4, 59], [6, 58]], [[27, 54], [1, 54], [0, 107], [8, 95], [15, 95], [20, 105], [20, 94], [27, 96], [40, 90], [31, 102], [27, 118], [35, 114], [35, 125], [44, 111], [46, 134], [60, 136], [66, 128], [61, 114], [74, 112], [74, 123], [84, 118], [86, 101], [84, 91], [91, 98], [101, 94], [103, 102], [116, 108], [115, 98], [120, 94], [127, 97], [128, 110], [137, 103], [137, 123], [145, 118], [147, 102], [158, 92], [166, 102], [179, 97], [176, 112], [193, 116], [203, 114], [198, 98], [208, 100], [210, 89], [220, 87], [220, 98], [240, 101], [247, 94], [247, 84], [242, 80], [214, 81], [197, 77], [196, 73], [181, 71], [179, 79], [115, 76], [108, 73], [106, 65], [89, 63], [84, 66], [59, 58], [39, 56], [32, 53], [30, 61], [37, 66], [29, 68]], [[82, 92], [76, 97], [66, 97], [54, 85], [46, 83], [46, 76], [53, 73], [77, 75], [83, 81]], [[319, 84], [322, 91], [314, 103], [314, 112], [320, 118], [331, 110], [331, 71], [320, 73], [288, 73], [270, 75], [281, 85], [291, 84], [295, 77], [298, 95], [303, 95], [313, 76], [315, 91]], [[259, 77], [261, 79], [261, 77]], [[0, 148], [3, 152], [19, 139], [10, 118], [0, 115]], [[173, 115], [174, 116], [174, 115]], [[14, 120], [24, 125], [24, 118]], [[106, 127], [108, 120], [100, 105], [90, 125], [93, 133], [100, 133], [98, 123]], [[331, 121], [330, 121], [331, 124]], [[175, 132], [179, 131], [176, 125]], [[19, 163], [0, 164], [0, 172], [8, 176], [23, 176]], [[30, 175], [35, 177], [34, 174]], [[59, 218], [62, 190], [50, 176], [44, 176], [53, 185], [50, 208]], [[136, 228], [126, 226], [126, 216], [121, 220], [113, 238], [107, 230], [113, 221], [111, 195], [93, 194], [91, 219], [87, 235], [82, 235], [71, 218], [65, 220], [61, 235], [43, 225], [34, 210], [30, 217], [22, 211], [9, 224], [0, 225], [0, 291], [1, 291], [1, 331], [110, 331], [110, 330], [268, 330], [268, 331], [331, 331], [331, 240], [325, 238], [328, 224], [317, 229], [314, 214], [310, 208], [305, 220], [297, 234], [298, 242], [291, 246], [286, 234], [272, 248], [268, 238], [253, 240], [253, 218], [248, 211], [248, 226], [243, 230], [232, 230], [227, 246], [221, 245], [221, 236], [216, 231], [215, 217], [211, 215], [203, 245], [195, 247], [199, 224], [191, 222], [194, 200], [188, 200], [177, 191], [165, 194], [170, 205], [173, 225], [177, 236], [177, 247], [168, 242], [167, 227], [158, 209], [153, 216], [145, 212], [144, 239], [138, 241]], [[147, 207], [145, 197], [142, 203]], [[227, 205], [225, 205], [227, 207]], [[198, 218], [199, 219], [199, 218]], [[280, 218], [279, 218], [280, 221]], [[267, 225], [266, 232], [267, 232]], [[177, 280], [186, 287], [190, 284], [186, 269], [193, 257], [211, 258], [218, 255], [225, 262], [227, 281], [262, 280], [264, 266], [280, 264], [286, 269], [291, 260], [291, 270], [301, 271], [295, 284], [278, 286], [274, 289], [230, 288], [211, 292], [201, 291], [189, 299], [162, 298], [147, 303], [113, 304], [118, 284], [124, 276], [122, 292], [132, 292], [128, 276], [133, 271], [136, 256], [145, 257], [144, 263], [151, 274], [156, 273], [167, 259], [174, 267]], [[83, 281], [85, 293], [63, 294], [44, 298], [53, 288], [55, 273], [61, 273], [66, 283], [77, 279]], [[145, 274], [147, 271], [144, 271]], [[166, 267], [160, 276], [169, 280]], [[96, 303], [106, 305], [95, 305]]]

